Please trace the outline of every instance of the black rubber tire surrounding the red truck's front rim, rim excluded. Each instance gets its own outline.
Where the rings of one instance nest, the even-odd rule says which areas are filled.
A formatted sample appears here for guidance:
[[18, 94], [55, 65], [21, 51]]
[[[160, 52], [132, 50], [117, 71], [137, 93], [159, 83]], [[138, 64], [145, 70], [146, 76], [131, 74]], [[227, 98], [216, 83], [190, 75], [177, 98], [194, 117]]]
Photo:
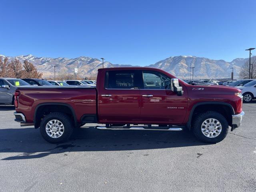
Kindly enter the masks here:
[[[220, 134], [214, 138], [209, 138], [205, 136], [201, 130], [202, 123], [209, 118], [214, 118], [218, 120], [222, 126]], [[228, 134], [228, 121], [222, 114], [215, 111], [208, 111], [205, 113], [198, 114], [198, 116], [196, 116], [195, 120], [192, 123], [192, 131], [196, 138], [198, 138], [198, 140], [202, 142], [218, 143], [222, 141]]]

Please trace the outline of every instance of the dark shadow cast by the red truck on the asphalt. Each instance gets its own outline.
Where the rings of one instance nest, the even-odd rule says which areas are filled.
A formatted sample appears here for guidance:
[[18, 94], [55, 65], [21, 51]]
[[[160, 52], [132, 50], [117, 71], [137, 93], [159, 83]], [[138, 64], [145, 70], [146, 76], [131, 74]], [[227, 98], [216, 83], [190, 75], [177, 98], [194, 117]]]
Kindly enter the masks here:
[[[0, 129], [0, 153], [8, 153], [1, 160], [42, 158], [50, 154], [90, 151], [129, 151], [203, 146], [190, 132], [96, 130], [94, 127], [80, 128], [63, 144], [50, 144], [38, 129]], [[20, 153], [20, 154], [12, 154]]]

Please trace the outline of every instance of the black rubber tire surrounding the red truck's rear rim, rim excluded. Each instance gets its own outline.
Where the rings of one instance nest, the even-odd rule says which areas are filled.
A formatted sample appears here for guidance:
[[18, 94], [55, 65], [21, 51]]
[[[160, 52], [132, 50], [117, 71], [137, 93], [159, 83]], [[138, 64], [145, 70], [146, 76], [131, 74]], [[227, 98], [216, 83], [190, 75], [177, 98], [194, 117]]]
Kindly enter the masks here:
[[[52, 137], [48, 136], [48, 134], [46, 133], [46, 124], [50, 120], [59, 120], [63, 124], [64, 132], [60, 137], [52, 138]], [[70, 119], [70, 117], [68, 115], [66, 115], [64, 113], [60, 113], [60, 112], [53, 112], [53, 113], [48, 114], [47, 116], [45, 116], [42, 119], [41, 124], [40, 124], [40, 133], [41, 133], [42, 137], [49, 143], [66, 142], [72, 135], [73, 130], [74, 130], [74, 124], [73, 124], [72, 120]]]

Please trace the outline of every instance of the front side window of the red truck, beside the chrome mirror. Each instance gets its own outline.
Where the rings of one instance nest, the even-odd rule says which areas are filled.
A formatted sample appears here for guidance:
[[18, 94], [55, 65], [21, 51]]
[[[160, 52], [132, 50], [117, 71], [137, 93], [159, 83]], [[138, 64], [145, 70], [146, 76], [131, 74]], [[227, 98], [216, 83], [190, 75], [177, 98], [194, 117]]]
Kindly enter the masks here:
[[144, 89], [166, 89], [171, 79], [155, 71], [143, 71]]

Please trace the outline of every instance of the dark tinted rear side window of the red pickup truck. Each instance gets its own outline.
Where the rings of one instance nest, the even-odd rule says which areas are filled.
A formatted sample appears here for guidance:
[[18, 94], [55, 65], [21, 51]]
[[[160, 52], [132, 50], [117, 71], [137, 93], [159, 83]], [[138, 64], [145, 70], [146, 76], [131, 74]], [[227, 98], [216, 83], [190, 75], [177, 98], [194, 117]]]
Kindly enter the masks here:
[[105, 88], [131, 89], [134, 86], [134, 71], [108, 71], [106, 73]]

